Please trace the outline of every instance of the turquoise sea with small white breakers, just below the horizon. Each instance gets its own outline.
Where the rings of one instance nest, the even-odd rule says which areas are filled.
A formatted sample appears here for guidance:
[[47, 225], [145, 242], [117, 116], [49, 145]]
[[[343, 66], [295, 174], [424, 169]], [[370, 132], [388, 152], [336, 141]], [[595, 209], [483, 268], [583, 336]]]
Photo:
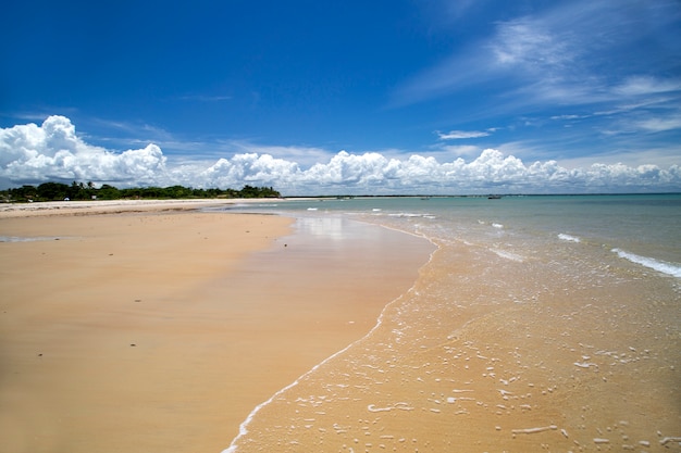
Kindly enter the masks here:
[[300, 217], [343, 215], [519, 260], [542, 252], [560, 256], [566, 247], [574, 251], [580, 244], [584, 252], [589, 247], [609, 250], [611, 259], [627, 260], [642, 272], [681, 277], [681, 194], [356, 198], [242, 209]]

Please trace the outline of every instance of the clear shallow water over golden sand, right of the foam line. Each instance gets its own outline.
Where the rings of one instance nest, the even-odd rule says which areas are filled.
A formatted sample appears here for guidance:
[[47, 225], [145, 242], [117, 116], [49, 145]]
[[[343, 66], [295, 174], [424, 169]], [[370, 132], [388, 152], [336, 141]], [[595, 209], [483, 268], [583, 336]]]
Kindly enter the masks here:
[[442, 246], [380, 327], [277, 394], [230, 451], [681, 451], [668, 278], [574, 281]]

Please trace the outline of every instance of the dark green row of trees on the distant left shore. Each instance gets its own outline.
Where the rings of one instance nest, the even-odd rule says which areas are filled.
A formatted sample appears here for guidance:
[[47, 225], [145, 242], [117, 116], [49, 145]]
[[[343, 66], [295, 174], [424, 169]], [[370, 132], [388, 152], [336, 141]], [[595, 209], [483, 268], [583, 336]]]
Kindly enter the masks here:
[[44, 183], [37, 187], [22, 186], [1, 190], [0, 199], [5, 202], [58, 201], [58, 200], [140, 200], [140, 199], [206, 199], [206, 198], [277, 198], [280, 192], [272, 187], [244, 186], [234, 189], [194, 189], [191, 187], [138, 187], [117, 189], [108, 184], [96, 188], [92, 183]]

